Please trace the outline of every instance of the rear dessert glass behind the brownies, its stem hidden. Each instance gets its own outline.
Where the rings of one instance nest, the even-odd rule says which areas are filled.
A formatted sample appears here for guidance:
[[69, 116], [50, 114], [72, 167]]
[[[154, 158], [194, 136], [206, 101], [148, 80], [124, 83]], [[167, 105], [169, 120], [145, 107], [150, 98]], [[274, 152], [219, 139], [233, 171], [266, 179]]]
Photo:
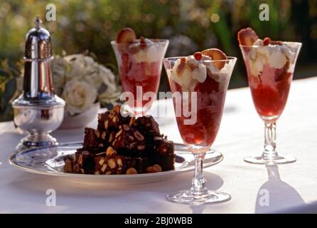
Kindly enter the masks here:
[[130, 43], [112, 41], [123, 92], [131, 93], [128, 104], [135, 115], [151, 108], [161, 79], [162, 59], [168, 40], [135, 39]]

